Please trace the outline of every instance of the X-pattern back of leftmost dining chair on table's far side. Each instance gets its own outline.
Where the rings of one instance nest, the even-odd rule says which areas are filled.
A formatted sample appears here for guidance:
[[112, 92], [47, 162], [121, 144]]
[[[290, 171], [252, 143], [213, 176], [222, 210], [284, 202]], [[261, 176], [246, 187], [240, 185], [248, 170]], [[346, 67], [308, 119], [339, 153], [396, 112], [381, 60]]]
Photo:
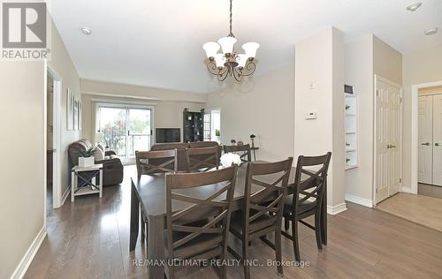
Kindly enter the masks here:
[[[135, 151], [137, 174], [151, 175], [154, 173], [171, 172], [178, 170], [177, 149], [159, 151]], [[155, 159], [161, 159], [156, 163]], [[155, 161], [155, 162], [154, 162]]]

